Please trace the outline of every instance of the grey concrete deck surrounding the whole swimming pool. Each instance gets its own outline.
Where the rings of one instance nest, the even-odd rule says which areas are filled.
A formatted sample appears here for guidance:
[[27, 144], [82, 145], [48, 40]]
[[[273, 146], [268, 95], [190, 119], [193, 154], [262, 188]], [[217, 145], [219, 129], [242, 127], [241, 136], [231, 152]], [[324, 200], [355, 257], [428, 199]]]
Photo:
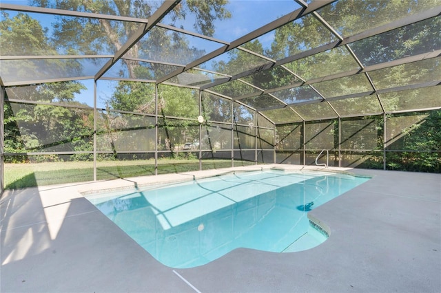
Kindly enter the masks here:
[[[271, 166], [318, 169], [238, 169]], [[441, 292], [440, 174], [345, 169], [373, 179], [309, 212], [331, 230], [320, 246], [189, 269], [158, 263], [81, 195], [229, 170], [5, 191], [0, 292]]]

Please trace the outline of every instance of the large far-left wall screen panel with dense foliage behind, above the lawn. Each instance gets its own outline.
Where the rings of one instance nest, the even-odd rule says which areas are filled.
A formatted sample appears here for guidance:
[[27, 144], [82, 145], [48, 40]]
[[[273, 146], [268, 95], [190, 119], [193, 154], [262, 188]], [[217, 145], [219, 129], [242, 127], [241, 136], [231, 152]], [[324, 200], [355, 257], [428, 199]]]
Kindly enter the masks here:
[[16, 102], [5, 107], [6, 151], [93, 150], [93, 109]]

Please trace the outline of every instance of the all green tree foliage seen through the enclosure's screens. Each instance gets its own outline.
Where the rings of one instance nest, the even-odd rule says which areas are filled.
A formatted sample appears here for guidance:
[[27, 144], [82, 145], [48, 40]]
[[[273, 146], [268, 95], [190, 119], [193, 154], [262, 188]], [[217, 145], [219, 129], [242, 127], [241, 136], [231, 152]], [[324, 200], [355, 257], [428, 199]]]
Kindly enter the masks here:
[[[338, 30], [342, 36], [357, 34], [365, 28], [373, 28], [379, 23], [388, 23], [400, 18], [409, 12], [424, 10], [431, 7], [433, 1], [411, 1], [409, 5], [403, 1], [336, 1], [320, 10], [320, 14], [326, 15], [326, 19]], [[79, 12], [92, 12], [103, 14], [115, 14], [121, 16], [132, 16], [147, 19], [156, 10], [157, 1], [83, 1], [83, 0], [59, 0], [45, 1], [34, 0], [38, 6], [59, 8], [65, 10], [75, 10]], [[214, 34], [214, 22], [216, 20], [231, 17], [230, 12], [225, 10], [226, 0], [188, 0], [180, 3], [171, 12], [172, 25], [178, 20], [185, 20], [189, 14], [196, 15], [194, 29], [197, 32], [212, 36]], [[130, 4], [130, 5], [129, 5]], [[353, 11], [363, 11], [363, 14], [354, 14]], [[136, 23], [125, 21], [108, 21], [105, 19], [96, 20], [81, 17], [57, 17], [54, 23], [52, 35], [49, 36], [48, 29], [42, 27], [39, 21], [32, 19], [30, 15], [18, 13], [10, 18], [6, 11], [1, 11], [2, 20], [0, 22], [0, 47], [3, 54], [8, 55], [48, 55], [48, 54], [110, 54], [121, 49], [123, 43], [138, 30]], [[420, 21], [413, 25], [407, 25], [391, 32], [378, 36], [362, 39], [356, 43], [349, 44], [358, 56], [363, 56], [360, 60], [364, 65], [377, 64], [396, 60], [407, 55], [420, 54], [422, 52], [438, 50], [440, 47], [439, 30], [433, 28], [441, 27], [440, 17], [433, 17], [426, 21]], [[245, 50], [251, 50], [258, 54], [269, 56], [277, 61], [299, 54], [305, 50], [325, 45], [336, 40], [329, 30], [310, 14], [297, 21], [283, 25], [274, 31], [274, 42], [267, 50], [263, 49], [263, 44], [259, 40], [250, 41], [243, 45]], [[230, 50], [229, 62], [218, 61], [214, 64], [214, 69], [227, 74], [237, 74], [246, 69], [256, 69], [266, 61], [262, 58], [248, 54], [245, 50]], [[176, 69], [173, 65], [159, 65], [156, 63], [140, 63], [138, 61], [128, 61], [132, 58], [155, 58], [158, 61], [174, 62], [181, 58], [194, 60], [206, 52], [189, 45], [183, 34], [178, 32], [167, 32], [162, 28], [155, 28], [127, 52], [122, 62], [128, 69], [128, 74], [122, 74], [125, 78], [143, 78], [154, 80], [158, 76], [165, 76]], [[136, 59], [135, 59], [136, 60]], [[185, 60], [187, 61], [187, 60]], [[180, 63], [185, 63], [185, 61]], [[429, 60], [431, 61], [431, 60]], [[61, 63], [57, 60], [48, 61], [50, 63], [49, 74], [58, 76], [66, 72], [79, 74], [81, 65], [76, 62]], [[438, 61], [437, 61], [438, 62]], [[437, 73], [438, 63], [432, 62], [419, 70], [418, 67], [403, 65], [384, 69], [380, 72], [380, 78], [384, 75], [382, 83], [385, 87], [407, 85], [412, 80], [424, 81]], [[23, 72], [33, 72], [36, 69], [34, 63], [23, 61], [23, 66], [18, 70]], [[296, 73], [303, 80], [318, 78], [346, 72], [358, 68], [353, 57], [346, 47], [336, 47], [333, 50], [322, 52], [314, 56], [302, 58], [300, 60], [285, 64], [292, 72]], [[22, 74], [20, 72], [19, 74]], [[23, 73], [24, 74], [24, 73]], [[373, 74], [373, 73], [372, 73]], [[429, 77], [428, 77], [429, 76]], [[292, 74], [287, 74], [282, 66], [277, 66], [271, 70], [256, 72], [246, 76], [246, 81], [262, 89], [274, 89], [285, 85], [294, 85], [301, 82], [298, 78], [293, 78]], [[360, 78], [360, 79], [359, 79]], [[244, 78], [245, 79], [245, 78]], [[364, 80], [364, 83], [363, 83]], [[316, 89], [326, 96], [339, 96], [353, 94], [355, 92], [366, 91], [367, 79], [365, 75], [359, 74], [355, 78], [339, 78], [338, 80], [327, 80], [316, 84]], [[85, 151], [73, 155], [70, 160], [92, 160], [90, 152], [93, 149], [93, 129], [94, 116], [92, 109], [84, 109], [74, 100], [75, 94], [85, 88], [78, 82], [65, 83], [46, 83], [42, 85], [32, 85], [20, 87], [20, 94], [8, 98], [27, 100], [30, 102], [42, 102], [42, 104], [25, 104], [6, 102], [4, 107], [5, 114], [5, 135], [4, 144], [6, 153], [25, 153], [33, 151]], [[226, 96], [232, 98], [251, 94], [255, 91], [253, 87], [245, 83], [236, 81], [225, 85], [214, 87]], [[430, 91], [411, 91], [409, 93], [380, 94], [380, 99], [384, 98], [387, 102], [389, 111], [401, 111], [406, 108], [408, 102], [418, 102], [421, 100], [433, 100], [433, 108], [438, 107], [436, 91], [438, 87], [432, 87]], [[13, 88], [10, 88], [14, 93]], [[102, 160], [118, 159], [118, 151], [125, 148], [128, 151], [151, 151], [152, 145], [158, 144], [158, 149], [172, 151], [172, 158], [184, 160], [194, 160], [194, 153], [179, 153], [178, 146], [185, 142], [194, 142], [199, 137], [199, 124], [195, 121], [200, 113], [198, 92], [194, 89], [172, 87], [160, 85], [158, 87], [159, 98], [155, 103], [156, 89], [153, 83], [141, 83], [133, 81], [120, 81], [114, 94], [107, 100], [107, 111], [99, 114], [96, 124], [99, 128], [99, 145], [102, 151], [112, 151], [112, 155], [99, 155]], [[276, 95], [276, 93], [273, 93]], [[429, 95], [429, 97], [424, 96]], [[302, 96], [300, 89], [291, 89], [289, 102], [296, 102]], [[307, 95], [305, 95], [307, 96]], [[307, 97], [308, 98], [308, 97]], [[305, 98], [305, 99], [307, 99]], [[300, 99], [300, 98], [299, 98]], [[236, 122], [237, 124], [250, 124], [254, 122], [256, 113], [243, 105], [219, 98], [207, 93], [203, 94], [202, 113], [205, 118], [218, 122]], [[362, 101], [362, 102], [360, 102]], [[57, 105], [50, 104], [57, 103]], [[79, 106], [80, 108], [62, 107], [61, 105]], [[379, 103], [376, 98], [347, 98], [335, 104], [342, 112], [347, 113], [377, 113]], [[157, 107], [156, 107], [157, 106]], [[307, 120], [320, 120], [336, 116], [334, 110], [329, 107], [327, 102], [316, 103], [303, 106], [292, 106], [303, 118]], [[130, 111], [139, 113], [127, 114], [113, 110]], [[366, 110], [367, 109], [367, 110]], [[363, 112], [365, 111], [366, 112]], [[155, 135], [148, 132], [155, 127], [150, 120], [151, 114], [158, 113], [158, 141], [154, 142]], [[280, 112], [276, 112], [280, 113]], [[294, 112], [287, 111], [287, 116], [280, 117], [281, 120], [291, 119]], [[341, 112], [339, 112], [341, 114]], [[424, 114], [425, 115], [425, 114]], [[388, 169], [410, 170], [410, 171], [430, 171], [440, 172], [440, 149], [441, 149], [441, 116], [440, 111], [431, 111], [426, 117], [409, 125], [402, 125], [400, 120], [389, 122], [389, 129], [393, 129], [392, 138], [387, 137], [391, 142], [387, 144], [387, 167]], [[390, 116], [391, 118], [395, 116]], [[389, 117], [388, 117], [389, 118]], [[350, 119], [349, 119], [350, 120]], [[344, 120], [348, 122], [349, 120]], [[348, 126], [347, 135], [344, 138], [345, 148], [349, 150], [369, 149], [382, 150], [382, 130], [384, 127], [382, 116], [362, 117], [353, 119], [354, 126]], [[298, 127], [298, 128], [297, 128]], [[303, 132], [299, 131], [300, 124], [296, 127], [278, 127], [278, 144], [280, 150], [302, 149]], [[237, 129], [237, 127], [236, 127]], [[212, 131], [215, 135], [216, 131]], [[227, 130], [223, 131], [226, 133]], [[229, 130], [228, 130], [229, 131]], [[343, 131], [345, 132], [345, 131]], [[145, 135], [143, 137], [139, 136]], [[145, 134], [147, 133], [147, 134]], [[265, 133], [265, 132], [264, 132]], [[149, 136], [150, 135], [150, 136]], [[219, 134], [220, 135], [220, 134]], [[307, 149], [335, 149], [338, 145], [338, 127], [336, 120], [330, 122], [308, 122], [305, 138]], [[228, 136], [228, 135], [226, 135]], [[229, 137], [231, 140], [231, 138]], [[226, 139], [225, 141], [229, 141]], [[254, 146], [254, 136], [248, 133], [247, 129], [236, 131], [236, 147], [252, 148]], [[262, 135], [260, 143], [271, 146], [271, 133]], [[390, 146], [390, 147], [389, 147]], [[131, 156], [131, 157], [130, 157]], [[360, 153], [348, 153], [348, 161], [362, 161], [358, 166], [368, 168], [378, 168], [383, 162], [377, 156], [366, 158]], [[129, 158], [130, 157], [130, 158]], [[369, 157], [369, 158], [367, 158]], [[127, 155], [128, 159], [134, 159], [136, 155]], [[26, 155], [6, 156], [10, 162], [29, 162]], [[61, 160], [57, 155], [41, 155], [36, 159], [38, 162], [56, 162]], [[197, 164], [188, 162], [185, 170], [196, 168]], [[184, 165], [181, 165], [184, 166]], [[163, 166], [162, 170], [177, 170], [176, 164]], [[169, 169], [170, 167], [170, 169]], [[115, 169], [116, 168], [116, 169]], [[133, 171], [130, 166], [112, 166], [109, 169], [100, 169], [102, 178], [127, 177], [136, 174], [151, 173], [152, 169]], [[132, 168], [133, 169], [133, 168]], [[147, 171], [146, 171], [147, 170]], [[81, 175], [74, 175], [72, 180], [84, 180]], [[78, 171], [80, 172], [80, 171]], [[90, 174], [90, 171], [88, 171]], [[86, 172], [87, 173], [87, 172]], [[36, 177], [46, 178], [53, 176], [53, 173], [37, 173]], [[106, 175], [107, 174], [107, 175]], [[47, 175], [47, 176], [46, 176]], [[32, 182], [32, 176], [28, 180]], [[49, 179], [48, 179], [49, 180]], [[51, 182], [51, 181], [44, 181]], [[47, 184], [47, 183], [43, 183]]]

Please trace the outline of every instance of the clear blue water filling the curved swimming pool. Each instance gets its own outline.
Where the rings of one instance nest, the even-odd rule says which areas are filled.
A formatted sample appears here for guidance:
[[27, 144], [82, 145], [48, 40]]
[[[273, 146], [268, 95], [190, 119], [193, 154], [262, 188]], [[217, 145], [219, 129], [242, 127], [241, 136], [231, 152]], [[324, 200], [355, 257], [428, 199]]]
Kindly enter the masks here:
[[322, 243], [307, 212], [367, 180], [271, 170], [86, 198], [164, 265], [192, 268], [235, 248], [294, 252]]

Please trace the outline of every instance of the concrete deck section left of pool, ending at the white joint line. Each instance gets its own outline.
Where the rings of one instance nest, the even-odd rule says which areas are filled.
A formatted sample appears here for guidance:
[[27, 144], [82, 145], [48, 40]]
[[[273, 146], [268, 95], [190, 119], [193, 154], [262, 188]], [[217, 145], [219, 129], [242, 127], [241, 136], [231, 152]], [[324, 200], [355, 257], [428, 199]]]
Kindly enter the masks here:
[[0, 292], [191, 292], [84, 197], [6, 191]]

